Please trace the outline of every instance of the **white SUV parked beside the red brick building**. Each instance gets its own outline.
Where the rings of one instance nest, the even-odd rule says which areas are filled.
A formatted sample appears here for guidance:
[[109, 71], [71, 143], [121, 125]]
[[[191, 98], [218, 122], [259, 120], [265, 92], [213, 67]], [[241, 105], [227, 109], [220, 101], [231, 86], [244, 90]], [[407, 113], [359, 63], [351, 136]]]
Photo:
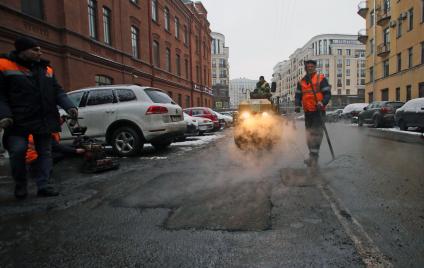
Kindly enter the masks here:
[[[89, 137], [105, 138], [120, 156], [138, 154], [144, 143], [168, 147], [187, 129], [180, 106], [162, 90], [137, 85], [84, 88], [68, 93]], [[63, 139], [72, 138], [63, 129]]]

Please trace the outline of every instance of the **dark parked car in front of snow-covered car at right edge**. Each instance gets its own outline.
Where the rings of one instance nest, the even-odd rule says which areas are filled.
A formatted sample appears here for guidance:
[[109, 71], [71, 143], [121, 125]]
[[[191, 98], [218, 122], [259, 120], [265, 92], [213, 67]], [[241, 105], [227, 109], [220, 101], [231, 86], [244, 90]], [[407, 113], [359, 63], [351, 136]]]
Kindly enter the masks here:
[[364, 123], [368, 123], [373, 124], [375, 128], [383, 126], [393, 127], [396, 109], [404, 104], [400, 101], [374, 101], [359, 113], [358, 125], [362, 126]]

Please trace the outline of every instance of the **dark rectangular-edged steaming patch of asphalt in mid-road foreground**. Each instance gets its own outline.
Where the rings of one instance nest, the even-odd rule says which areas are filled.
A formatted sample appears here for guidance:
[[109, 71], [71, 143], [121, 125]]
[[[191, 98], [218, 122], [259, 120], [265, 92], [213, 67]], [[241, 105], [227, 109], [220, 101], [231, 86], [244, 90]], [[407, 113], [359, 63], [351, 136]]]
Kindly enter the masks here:
[[269, 192], [260, 181], [225, 184], [205, 174], [164, 173], [114, 204], [171, 209], [163, 225], [169, 230], [264, 231], [271, 228]]

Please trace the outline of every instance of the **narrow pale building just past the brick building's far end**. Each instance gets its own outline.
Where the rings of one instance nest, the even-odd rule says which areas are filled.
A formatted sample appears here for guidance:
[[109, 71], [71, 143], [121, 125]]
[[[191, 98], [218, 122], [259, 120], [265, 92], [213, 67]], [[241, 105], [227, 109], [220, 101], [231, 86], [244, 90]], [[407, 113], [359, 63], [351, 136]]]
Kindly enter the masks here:
[[230, 49], [225, 46], [225, 36], [221, 33], [212, 32], [212, 89], [215, 98], [216, 109], [228, 109], [230, 107], [229, 84], [230, 84]]

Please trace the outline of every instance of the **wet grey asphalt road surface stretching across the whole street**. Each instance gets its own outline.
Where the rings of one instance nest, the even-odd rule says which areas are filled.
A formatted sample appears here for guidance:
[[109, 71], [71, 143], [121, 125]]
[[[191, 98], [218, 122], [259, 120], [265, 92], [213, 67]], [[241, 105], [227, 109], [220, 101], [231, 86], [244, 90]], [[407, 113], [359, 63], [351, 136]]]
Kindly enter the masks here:
[[328, 130], [337, 158], [324, 141], [317, 171], [299, 122], [271, 151], [229, 129], [99, 175], [70, 160], [57, 198], [14, 201], [4, 179], [0, 266], [424, 267], [424, 147]]

